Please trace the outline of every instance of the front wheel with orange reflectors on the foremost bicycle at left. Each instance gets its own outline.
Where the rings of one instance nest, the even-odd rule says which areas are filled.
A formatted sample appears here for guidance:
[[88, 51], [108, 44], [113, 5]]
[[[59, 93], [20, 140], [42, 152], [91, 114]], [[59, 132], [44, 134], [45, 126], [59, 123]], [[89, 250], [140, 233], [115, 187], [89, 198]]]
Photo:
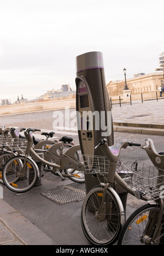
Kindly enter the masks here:
[[30, 190], [37, 181], [37, 168], [25, 156], [14, 156], [6, 162], [2, 172], [3, 182], [8, 189], [17, 193]]

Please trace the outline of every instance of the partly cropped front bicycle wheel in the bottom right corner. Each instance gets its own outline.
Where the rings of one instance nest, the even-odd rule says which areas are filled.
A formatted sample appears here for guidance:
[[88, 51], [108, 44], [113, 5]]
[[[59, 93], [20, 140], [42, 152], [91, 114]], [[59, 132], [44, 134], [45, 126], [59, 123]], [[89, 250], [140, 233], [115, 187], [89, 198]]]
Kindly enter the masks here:
[[[157, 205], [143, 205], [134, 211], [123, 226], [118, 245], [150, 245], [151, 237], [156, 228], [159, 207]], [[164, 212], [159, 237], [154, 245], [164, 245]], [[146, 228], [147, 227], [147, 228]], [[146, 228], [146, 229], [145, 229]]]

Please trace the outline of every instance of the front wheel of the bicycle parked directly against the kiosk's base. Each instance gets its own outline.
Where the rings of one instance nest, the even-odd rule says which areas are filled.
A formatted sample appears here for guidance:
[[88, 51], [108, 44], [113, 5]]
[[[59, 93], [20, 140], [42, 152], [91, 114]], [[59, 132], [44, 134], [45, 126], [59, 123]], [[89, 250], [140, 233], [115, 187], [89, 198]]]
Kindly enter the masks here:
[[[113, 245], [118, 240], [121, 230], [118, 200], [109, 189], [107, 189], [106, 198], [106, 217], [101, 221], [96, 218], [103, 190], [100, 185], [92, 188], [86, 195], [81, 209], [81, 227], [85, 237], [92, 245]], [[99, 217], [103, 216], [104, 213], [99, 214]]]

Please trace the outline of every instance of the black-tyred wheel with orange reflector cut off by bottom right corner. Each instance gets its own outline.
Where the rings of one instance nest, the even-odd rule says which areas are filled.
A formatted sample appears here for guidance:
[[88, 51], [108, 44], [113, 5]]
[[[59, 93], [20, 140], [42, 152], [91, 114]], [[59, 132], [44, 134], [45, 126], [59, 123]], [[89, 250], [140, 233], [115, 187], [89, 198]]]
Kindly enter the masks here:
[[[159, 212], [159, 207], [157, 205], [143, 205], [134, 211], [131, 216], [127, 219], [126, 223], [122, 227], [120, 236], [118, 239], [118, 245], [149, 245], [150, 240], [149, 236], [150, 230], [147, 231], [147, 234], [144, 234], [145, 226], [148, 223], [149, 212], [154, 211], [154, 216], [156, 216], [155, 211]], [[164, 212], [163, 212], [164, 214]], [[152, 216], [152, 214], [151, 214]], [[162, 217], [162, 223], [164, 222], [164, 215]], [[151, 226], [151, 230], [155, 226]], [[145, 242], [147, 241], [147, 242]], [[164, 242], [164, 227], [161, 229], [160, 241], [161, 245]]]

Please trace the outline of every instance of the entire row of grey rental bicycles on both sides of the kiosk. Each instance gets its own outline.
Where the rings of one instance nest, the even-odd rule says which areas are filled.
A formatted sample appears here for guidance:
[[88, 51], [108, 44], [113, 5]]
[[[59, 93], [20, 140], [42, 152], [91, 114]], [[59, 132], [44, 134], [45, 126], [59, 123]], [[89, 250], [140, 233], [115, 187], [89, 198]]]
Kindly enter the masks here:
[[[79, 183], [92, 176], [98, 183], [81, 209], [81, 227], [92, 245], [164, 244], [164, 152], [157, 152], [151, 139], [143, 146], [125, 140], [110, 147], [100, 139], [95, 148], [101, 148], [102, 156], [82, 156], [71, 137], [63, 136], [58, 142], [52, 139], [54, 132], [43, 132], [46, 138], [38, 141], [35, 131], [0, 127], [0, 183], [22, 193], [34, 186], [42, 171]], [[120, 166], [121, 149], [132, 146], [144, 149], [150, 160], [125, 161]], [[145, 201], [127, 220], [120, 192]]]

